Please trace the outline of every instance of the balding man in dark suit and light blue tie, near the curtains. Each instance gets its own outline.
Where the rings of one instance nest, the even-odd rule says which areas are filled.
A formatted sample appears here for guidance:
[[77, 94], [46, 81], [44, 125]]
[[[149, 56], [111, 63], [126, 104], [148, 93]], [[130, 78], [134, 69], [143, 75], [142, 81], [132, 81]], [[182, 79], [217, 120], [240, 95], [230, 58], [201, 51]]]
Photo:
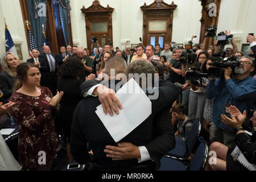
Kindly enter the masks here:
[[42, 86], [48, 87], [53, 96], [56, 94], [57, 90], [57, 70], [59, 63], [57, 62], [56, 55], [51, 53], [49, 46], [43, 47], [43, 54], [39, 55], [39, 58], [44, 59], [43, 64], [46, 65], [46, 69], [42, 71]]

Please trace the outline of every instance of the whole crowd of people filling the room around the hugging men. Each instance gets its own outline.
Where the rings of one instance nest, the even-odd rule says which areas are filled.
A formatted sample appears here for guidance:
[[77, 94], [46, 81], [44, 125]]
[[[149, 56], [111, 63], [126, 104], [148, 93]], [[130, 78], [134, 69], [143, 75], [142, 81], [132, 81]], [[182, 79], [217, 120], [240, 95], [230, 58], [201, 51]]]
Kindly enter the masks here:
[[[205, 41], [191, 49], [170, 42], [163, 49], [159, 44], [131, 49], [126, 42], [122, 51], [96, 42], [90, 49], [61, 46], [59, 54], [44, 46], [42, 53], [32, 50], [26, 63], [7, 52], [1, 60], [0, 115], [9, 113], [18, 123], [22, 170], [51, 170], [61, 147], [69, 163], [75, 160], [93, 170], [155, 170], [175, 148], [175, 137], [187, 140], [195, 119], [203, 125], [209, 150], [217, 152], [217, 164], [207, 163], [205, 170], [246, 169], [230, 154], [238, 145], [246, 159], [256, 163], [256, 143], [244, 131], [254, 133], [256, 127], [256, 40], [252, 35], [247, 40], [249, 56], [238, 52], [234, 40], [224, 56], [218, 55], [217, 43], [205, 49]], [[194, 59], [188, 59], [189, 54]], [[236, 67], [218, 64], [230, 59]], [[210, 72], [212, 68], [221, 75]], [[116, 143], [95, 111], [100, 104], [112, 116], [122, 110], [118, 90], [113, 89], [126, 82], [117, 77], [120, 73], [153, 77], [145, 93], [150, 96], [147, 91], [156, 89], [159, 96], [150, 100], [151, 115], [142, 125]], [[38, 163], [40, 151], [46, 152], [44, 164]]]

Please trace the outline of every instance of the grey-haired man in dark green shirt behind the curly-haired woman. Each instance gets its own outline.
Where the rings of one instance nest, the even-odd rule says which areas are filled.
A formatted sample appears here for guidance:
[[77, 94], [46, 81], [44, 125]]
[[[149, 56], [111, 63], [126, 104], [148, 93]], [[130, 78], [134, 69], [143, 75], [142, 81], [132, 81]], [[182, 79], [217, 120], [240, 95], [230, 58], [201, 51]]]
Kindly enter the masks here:
[[77, 57], [84, 63], [85, 77], [93, 72], [93, 60], [89, 56], [85, 56], [84, 49], [82, 47], [77, 48]]

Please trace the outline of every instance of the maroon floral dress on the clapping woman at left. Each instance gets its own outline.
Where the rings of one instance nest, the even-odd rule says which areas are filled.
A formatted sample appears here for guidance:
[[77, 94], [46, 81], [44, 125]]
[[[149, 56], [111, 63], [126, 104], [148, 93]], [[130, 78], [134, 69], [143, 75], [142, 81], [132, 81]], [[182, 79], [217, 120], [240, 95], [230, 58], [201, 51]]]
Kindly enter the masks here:
[[39, 97], [15, 92], [10, 98], [16, 102], [11, 114], [19, 125], [18, 151], [22, 170], [49, 169], [60, 150], [53, 122], [56, 109], [49, 105], [52, 93], [46, 87], [40, 90]]

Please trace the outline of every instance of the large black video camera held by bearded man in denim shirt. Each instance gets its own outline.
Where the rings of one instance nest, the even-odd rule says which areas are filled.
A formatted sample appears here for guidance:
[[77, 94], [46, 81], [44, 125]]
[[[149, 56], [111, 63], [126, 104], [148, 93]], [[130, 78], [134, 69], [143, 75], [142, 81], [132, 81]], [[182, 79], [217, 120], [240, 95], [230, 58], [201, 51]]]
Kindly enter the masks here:
[[209, 65], [213, 66], [208, 70], [208, 76], [211, 78], [220, 78], [224, 70], [222, 68], [234, 68], [241, 65], [240, 60], [236, 56], [231, 56], [228, 59], [221, 59], [220, 61], [213, 61]]

